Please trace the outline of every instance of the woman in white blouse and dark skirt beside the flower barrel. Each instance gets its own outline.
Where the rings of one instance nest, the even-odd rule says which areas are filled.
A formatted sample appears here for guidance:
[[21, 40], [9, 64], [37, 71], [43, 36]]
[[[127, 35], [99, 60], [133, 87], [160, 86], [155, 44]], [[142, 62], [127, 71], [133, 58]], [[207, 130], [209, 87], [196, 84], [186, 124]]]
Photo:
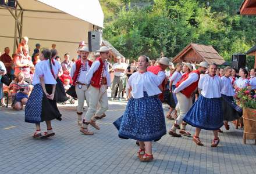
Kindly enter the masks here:
[[225, 75], [221, 78], [222, 81], [222, 112], [224, 119], [224, 126], [226, 130], [229, 130], [228, 121], [234, 121], [238, 119], [242, 115], [242, 109], [234, 103], [234, 90], [232, 81], [229, 77], [231, 77], [232, 68], [226, 67], [224, 69]]

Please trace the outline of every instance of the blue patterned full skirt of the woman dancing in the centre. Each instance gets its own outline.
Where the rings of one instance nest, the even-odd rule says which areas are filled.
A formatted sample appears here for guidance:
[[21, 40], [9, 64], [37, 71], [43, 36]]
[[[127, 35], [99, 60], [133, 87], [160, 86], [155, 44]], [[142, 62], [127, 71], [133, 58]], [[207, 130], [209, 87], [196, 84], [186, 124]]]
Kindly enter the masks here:
[[162, 103], [157, 95], [148, 97], [144, 92], [140, 99], [131, 98], [120, 119], [120, 137], [150, 142], [166, 134]]

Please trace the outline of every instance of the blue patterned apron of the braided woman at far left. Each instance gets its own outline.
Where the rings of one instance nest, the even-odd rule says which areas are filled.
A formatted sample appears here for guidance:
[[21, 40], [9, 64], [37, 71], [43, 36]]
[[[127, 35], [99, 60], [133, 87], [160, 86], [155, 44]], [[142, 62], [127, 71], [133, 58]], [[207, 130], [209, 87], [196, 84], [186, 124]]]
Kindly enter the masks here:
[[34, 86], [25, 107], [25, 122], [39, 124], [42, 113], [42, 95], [41, 84]]

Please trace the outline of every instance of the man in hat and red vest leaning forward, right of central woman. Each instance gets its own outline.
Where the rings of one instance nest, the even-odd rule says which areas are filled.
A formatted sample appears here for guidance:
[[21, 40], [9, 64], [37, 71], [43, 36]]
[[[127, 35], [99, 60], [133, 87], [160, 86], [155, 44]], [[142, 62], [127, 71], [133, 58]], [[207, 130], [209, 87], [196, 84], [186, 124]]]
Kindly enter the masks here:
[[[190, 73], [182, 78], [181, 81], [177, 82], [176, 89], [174, 92], [176, 93], [177, 100], [179, 102], [179, 116], [176, 118], [172, 128], [169, 131], [169, 135], [174, 137], [180, 137], [181, 135], [191, 136], [191, 134], [186, 131], [186, 123], [182, 122], [183, 118], [190, 110], [193, 105], [192, 102], [192, 94], [197, 89], [198, 81], [200, 79], [200, 74], [204, 74], [208, 68], [208, 63], [202, 61], [200, 64], [197, 64], [198, 69], [193, 71], [193, 66], [190, 63], [183, 63], [184, 69], [190, 69]], [[181, 125], [180, 134], [176, 133], [177, 128]]]

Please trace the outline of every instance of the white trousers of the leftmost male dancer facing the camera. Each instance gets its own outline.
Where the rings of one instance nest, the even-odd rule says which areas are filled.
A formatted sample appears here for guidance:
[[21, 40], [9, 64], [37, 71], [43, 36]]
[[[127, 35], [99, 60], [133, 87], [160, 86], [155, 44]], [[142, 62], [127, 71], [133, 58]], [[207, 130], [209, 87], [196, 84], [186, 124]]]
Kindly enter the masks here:
[[84, 98], [86, 97], [86, 104], [89, 106], [89, 92], [86, 85], [76, 85], [76, 95], [78, 99], [77, 113], [83, 113]]

